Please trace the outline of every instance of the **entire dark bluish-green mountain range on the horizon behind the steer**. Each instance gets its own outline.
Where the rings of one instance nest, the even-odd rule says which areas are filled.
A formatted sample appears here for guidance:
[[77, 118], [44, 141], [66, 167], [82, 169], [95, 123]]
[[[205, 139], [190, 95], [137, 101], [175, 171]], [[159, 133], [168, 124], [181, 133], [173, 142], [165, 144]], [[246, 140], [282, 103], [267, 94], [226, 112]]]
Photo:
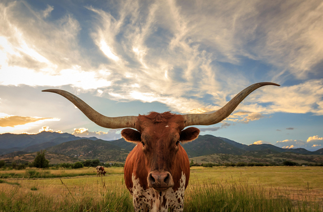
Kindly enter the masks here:
[[[98, 158], [102, 162], [123, 163], [134, 146], [134, 143], [129, 143], [123, 138], [105, 141], [96, 137], [77, 137], [69, 133], [41, 132], [31, 135], [5, 133], [0, 134], [0, 154], [3, 154], [0, 156], [0, 160], [2, 158], [9, 158], [9, 155], [6, 154], [11, 152], [23, 154], [46, 149], [53, 154], [62, 154], [74, 159], [77, 158], [78, 160]], [[261, 157], [263, 155], [284, 152], [323, 155], [323, 148], [316, 151], [308, 151], [303, 148], [284, 149], [272, 144], [245, 145], [213, 135], [200, 135], [194, 141], [182, 144], [182, 146], [189, 158], [211, 154]]]

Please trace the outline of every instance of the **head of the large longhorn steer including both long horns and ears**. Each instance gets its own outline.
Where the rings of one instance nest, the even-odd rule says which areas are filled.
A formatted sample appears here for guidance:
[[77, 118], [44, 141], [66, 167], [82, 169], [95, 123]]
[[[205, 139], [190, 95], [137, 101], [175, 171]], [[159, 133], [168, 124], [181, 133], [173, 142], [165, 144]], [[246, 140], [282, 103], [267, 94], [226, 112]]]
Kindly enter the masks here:
[[[250, 85], [232, 98], [223, 108], [211, 114], [176, 115], [170, 112], [163, 114], [151, 112], [142, 116], [106, 117], [82, 101], [77, 96], [58, 89], [43, 90], [58, 93], [76, 105], [91, 121], [105, 128], [127, 128], [122, 136], [130, 142], [141, 146], [145, 155], [147, 183], [158, 191], [165, 191], [174, 185], [172, 173], [176, 163], [176, 153], [181, 148], [179, 142], [194, 140], [199, 130], [192, 125], [213, 125], [227, 118], [239, 103], [252, 91], [264, 86], [276, 85], [272, 82], [261, 82]], [[133, 128], [133, 129], [129, 129]], [[136, 129], [136, 130], [134, 130]]]

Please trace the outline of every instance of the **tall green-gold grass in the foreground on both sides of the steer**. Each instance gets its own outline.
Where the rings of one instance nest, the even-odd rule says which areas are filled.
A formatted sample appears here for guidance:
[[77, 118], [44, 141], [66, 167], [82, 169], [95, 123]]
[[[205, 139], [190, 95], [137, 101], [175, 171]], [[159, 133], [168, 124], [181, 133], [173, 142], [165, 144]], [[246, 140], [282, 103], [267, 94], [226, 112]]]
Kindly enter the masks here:
[[[26, 184], [3, 187], [0, 211], [133, 211], [132, 197], [120, 180], [104, 183], [94, 178], [79, 186], [61, 183], [47, 188], [35, 182], [36, 191]], [[207, 181], [187, 188], [184, 211], [323, 211], [322, 204], [303, 196], [293, 200], [290, 192], [267, 190], [259, 184]]]

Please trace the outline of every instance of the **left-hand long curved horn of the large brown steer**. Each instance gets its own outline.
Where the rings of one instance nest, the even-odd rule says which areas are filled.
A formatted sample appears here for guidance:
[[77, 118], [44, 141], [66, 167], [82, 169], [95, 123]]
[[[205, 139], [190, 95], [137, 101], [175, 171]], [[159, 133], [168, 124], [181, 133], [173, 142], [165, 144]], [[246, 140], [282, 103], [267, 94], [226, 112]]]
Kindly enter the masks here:
[[44, 92], [52, 92], [52, 93], [58, 93], [68, 100], [70, 100], [75, 106], [80, 109], [87, 118], [89, 118], [92, 122], [95, 124], [105, 127], [105, 128], [111, 128], [111, 129], [117, 129], [117, 128], [136, 128], [136, 116], [123, 116], [123, 117], [106, 117], [102, 114], [96, 112], [94, 109], [92, 109], [87, 103], [85, 103], [82, 99], [79, 97], [73, 95], [72, 93], [69, 93], [65, 90], [60, 89], [47, 89], [42, 90]]

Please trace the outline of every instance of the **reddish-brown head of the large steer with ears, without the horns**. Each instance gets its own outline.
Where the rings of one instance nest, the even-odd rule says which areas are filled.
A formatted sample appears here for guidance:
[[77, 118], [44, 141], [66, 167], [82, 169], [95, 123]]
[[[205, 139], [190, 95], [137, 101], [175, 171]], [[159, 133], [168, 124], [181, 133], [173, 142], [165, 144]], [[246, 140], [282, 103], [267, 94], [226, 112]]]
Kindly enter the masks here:
[[121, 134], [127, 141], [141, 146], [145, 155], [148, 186], [158, 191], [173, 187], [172, 176], [180, 142], [194, 140], [200, 130], [195, 127], [183, 130], [183, 116], [170, 112], [139, 115], [136, 126], [137, 130], [127, 128]]

